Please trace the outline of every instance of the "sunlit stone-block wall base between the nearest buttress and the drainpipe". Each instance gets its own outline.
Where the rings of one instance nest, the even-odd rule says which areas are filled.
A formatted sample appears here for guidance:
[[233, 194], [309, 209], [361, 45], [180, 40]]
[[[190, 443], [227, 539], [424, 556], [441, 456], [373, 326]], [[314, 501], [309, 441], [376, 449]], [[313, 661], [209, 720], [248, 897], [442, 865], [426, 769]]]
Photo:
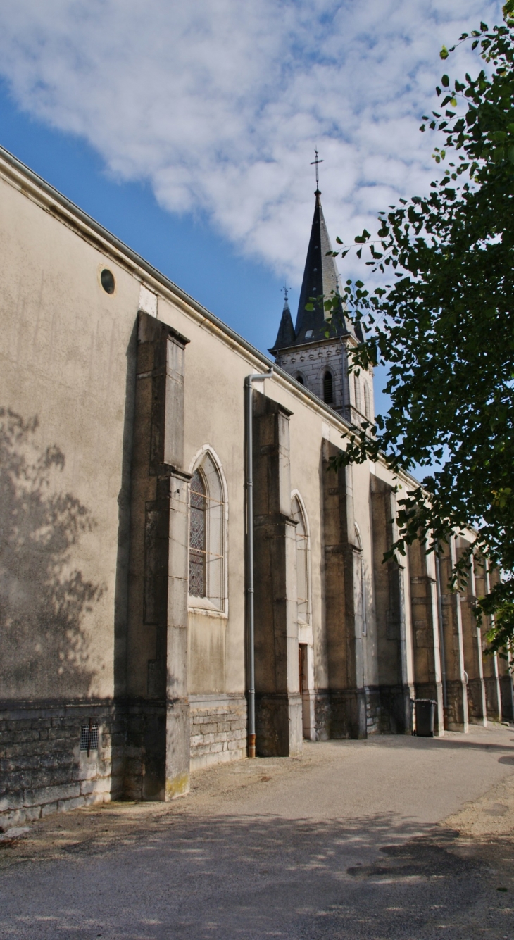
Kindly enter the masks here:
[[246, 757], [246, 699], [190, 696], [191, 769]]

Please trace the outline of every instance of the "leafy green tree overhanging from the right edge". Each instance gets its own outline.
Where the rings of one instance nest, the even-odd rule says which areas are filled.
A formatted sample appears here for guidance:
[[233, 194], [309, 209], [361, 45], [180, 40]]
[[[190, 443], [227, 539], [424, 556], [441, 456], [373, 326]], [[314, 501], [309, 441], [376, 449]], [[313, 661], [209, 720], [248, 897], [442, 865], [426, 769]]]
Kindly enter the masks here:
[[437, 549], [473, 525], [453, 587], [472, 551], [501, 570], [477, 614], [494, 615], [491, 649], [502, 651], [514, 638], [514, 0], [503, 24], [482, 23], [464, 41], [483, 68], [443, 75], [440, 110], [421, 127], [443, 135], [434, 153], [443, 178], [381, 212], [376, 241], [366, 230], [355, 240], [359, 258], [369, 250], [366, 263], [393, 282], [347, 282], [348, 313], [365, 331], [351, 368], [387, 364], [391, 407], [352, 429], [339, 463], [380, 453], [393, 470], [435, 462], [399, 499], [394, 550], [404, 555], [417, 538]]

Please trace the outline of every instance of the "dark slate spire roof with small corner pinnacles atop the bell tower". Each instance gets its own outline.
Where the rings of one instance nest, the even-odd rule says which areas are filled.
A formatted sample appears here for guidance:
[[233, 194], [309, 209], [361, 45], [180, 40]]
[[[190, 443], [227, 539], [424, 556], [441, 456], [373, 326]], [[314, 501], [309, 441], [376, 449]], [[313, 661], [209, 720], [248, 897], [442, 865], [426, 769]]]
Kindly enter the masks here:
[[[314, 343], [319, 342], [320, 339], [325, 339], [328, 323], [325, 320], [325, 311], [320, 298], [323, 296], [328, 298], [333, 292], [336, 294], [342, 292], [339, 274], [335, 267], [335, 258], [328, 254], [332, 251], [332, 245], [321, 208], [319, 189], [316, 190], [314, 195], [316, 196], [316, 205], [307, 248], [304, 281], [300, 291], [296, 323], [293, 330], [289, 307], [287, 305], [286, 309], [285, 304], [278, 335], [273, 348], [269, 351], [273, 354], [291, 346], [300, 346], [304, 343]], [[306, 310], [305, 306], [312, 303], [311, 298], [313, 297], [317, 298], [314, 309]], [[334, 326], [330, 327], [330, 336], [342, 337], [350, 334], [354, 335], [350, 322], [344, 316], [342, 302], [339, 301]]]

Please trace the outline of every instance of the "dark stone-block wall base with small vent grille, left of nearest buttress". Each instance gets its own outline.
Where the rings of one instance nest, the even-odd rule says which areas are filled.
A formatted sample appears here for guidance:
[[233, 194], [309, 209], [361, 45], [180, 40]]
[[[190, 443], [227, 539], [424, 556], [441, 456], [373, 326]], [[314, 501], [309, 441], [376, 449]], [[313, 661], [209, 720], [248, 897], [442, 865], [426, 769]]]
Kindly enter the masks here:
[[[87, 756], [81, 730], [89, 719], [98, 746]], [[116, 799], [123, 742], [112, 704], [8, 703], [0, 718], [0, 826]]]

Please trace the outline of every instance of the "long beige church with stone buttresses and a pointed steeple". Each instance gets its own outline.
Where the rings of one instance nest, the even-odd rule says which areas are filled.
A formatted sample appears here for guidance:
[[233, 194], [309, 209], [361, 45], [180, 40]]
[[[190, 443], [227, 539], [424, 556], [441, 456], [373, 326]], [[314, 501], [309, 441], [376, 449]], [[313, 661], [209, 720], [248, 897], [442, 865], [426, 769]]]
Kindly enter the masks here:
[[315, 196], [273, 361], [0, 149], [0, 824], [411, 734], [416, 697], [436, 734], [512, 717], [464, 538], [384, 562], [415, 480], [329, 469], [373, 376]]

